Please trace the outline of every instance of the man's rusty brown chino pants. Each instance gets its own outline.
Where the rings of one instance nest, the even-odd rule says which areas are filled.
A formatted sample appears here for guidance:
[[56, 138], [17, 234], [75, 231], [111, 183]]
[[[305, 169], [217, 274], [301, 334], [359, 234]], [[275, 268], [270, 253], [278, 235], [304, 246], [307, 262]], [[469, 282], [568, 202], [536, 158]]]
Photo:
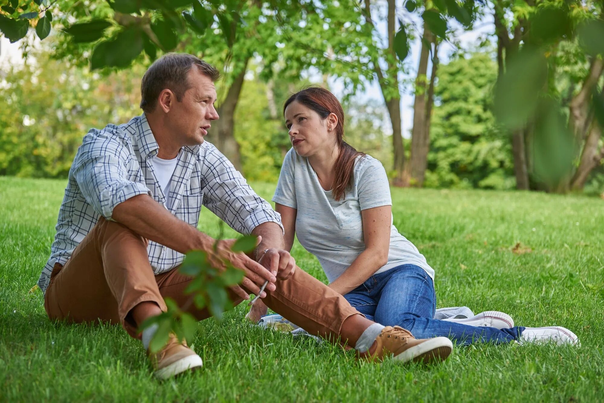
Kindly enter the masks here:
[[[178, 268], [156, 276], [149, 264], [147, 240], [122, 224], [100, 218], [65, 266], [54, 265], [44, 306], [50, 319], [121, 323], [138, 337], [130, 310], [152, 301], [165, 311], [164, 297], [182, 307], [189, 298], [183, 291], [190, 281]], [[303, 270], [287, 280], [278, 279], [276, 285], [263, 301], [311, 334], [337, 337], [344, 320], [359, 314], [344, 297]], [[231, 297], [235, 305], [242, 301], [234, 293]], [[210, 316], [191, 305], [187, 311], [198, 320]]]

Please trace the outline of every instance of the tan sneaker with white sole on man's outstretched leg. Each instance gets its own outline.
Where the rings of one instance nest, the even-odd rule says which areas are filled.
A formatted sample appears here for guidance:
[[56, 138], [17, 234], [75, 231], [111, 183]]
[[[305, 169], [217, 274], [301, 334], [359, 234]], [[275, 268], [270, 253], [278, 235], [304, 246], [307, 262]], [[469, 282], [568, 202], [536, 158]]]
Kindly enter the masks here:
[[453, 343], [446, 337], [415, 338], [400, 326], [386, 326], [376, 342], [376, 351], [373, 355], [366, 355], [366, 360], [384, 361], [393, 357], [393, 360], [403, 363], [423, 361], [429, 364], [444, 361], [453, 350]]

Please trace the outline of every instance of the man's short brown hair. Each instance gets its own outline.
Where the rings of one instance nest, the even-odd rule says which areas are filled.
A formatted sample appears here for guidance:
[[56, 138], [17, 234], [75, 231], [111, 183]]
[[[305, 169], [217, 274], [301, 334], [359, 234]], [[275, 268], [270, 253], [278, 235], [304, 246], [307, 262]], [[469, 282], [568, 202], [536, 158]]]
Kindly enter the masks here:
[[220, 78], [220, 72], [199, 57], [188, 53], [166, 53], [155, 60], [143, 76], [141, 109], [147, 113], [153, 112], [159, 93], [164, 89], [171, 90], [176, 95], [176, 100], [182, 101], [183, 95], [191, 87], [187, 73], [193, 66], [197, 66], [199, 71], [212, 81]]

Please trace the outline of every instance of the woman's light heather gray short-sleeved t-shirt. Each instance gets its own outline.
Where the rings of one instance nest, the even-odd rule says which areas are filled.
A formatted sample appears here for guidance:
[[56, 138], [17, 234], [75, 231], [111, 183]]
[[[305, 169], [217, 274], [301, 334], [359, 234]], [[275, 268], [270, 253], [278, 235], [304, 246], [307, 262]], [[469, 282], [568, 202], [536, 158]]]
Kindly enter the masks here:
[[[319, 259], [329, 282], [341, 276], [365, 250], [361, 211], [392, 205], [388, 177], [379, 160], [357, 157], [352, 182], [344, 197], [334, 200], [332, 191], [321, 188], [308, 159], [292, 148], [285, 156], [272, 198], [275, 203], [297, 209], [298, 241]], [[426, 258], [392, 225], [388, 262], [376, 273], [402, 264], [418, 265], [434, 279]]]

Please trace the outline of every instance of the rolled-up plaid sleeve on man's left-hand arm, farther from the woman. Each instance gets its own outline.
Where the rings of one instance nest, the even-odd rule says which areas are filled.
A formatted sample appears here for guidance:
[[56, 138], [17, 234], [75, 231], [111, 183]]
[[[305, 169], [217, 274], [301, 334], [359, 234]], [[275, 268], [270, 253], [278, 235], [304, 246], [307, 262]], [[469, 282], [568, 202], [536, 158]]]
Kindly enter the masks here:
[[115, 206], [139, 194], [149, 194], [140, 182], [128, 179], [127, 148], [118, 139], [94, 131], [84, 137], [73, 164], [76, 182], [94, 211], [112, 220]]

